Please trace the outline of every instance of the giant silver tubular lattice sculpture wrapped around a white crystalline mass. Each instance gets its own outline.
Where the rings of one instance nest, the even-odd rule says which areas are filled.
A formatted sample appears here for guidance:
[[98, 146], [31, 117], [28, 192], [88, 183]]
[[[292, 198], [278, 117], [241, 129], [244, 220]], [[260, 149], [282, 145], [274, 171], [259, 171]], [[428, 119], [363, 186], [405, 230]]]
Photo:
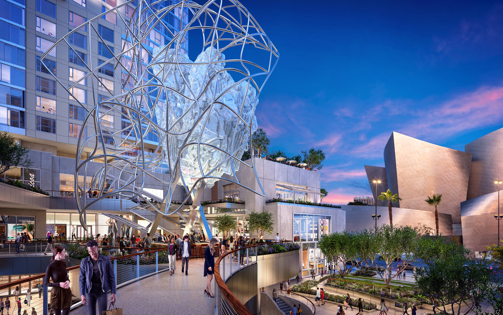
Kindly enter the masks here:
[[[170, 26], [173, 13], [180, 20]], [[102, 19], [124, 26], [120, 51], [107, 42], [110, 34], [100, 25]], [[69, 45], [82, 30], [88, 36], [87, 60]], [[111, 36], [117, 42], [117, 34]], [[189, 36], [201, 45], [188, 49]], [[86, 209], [103, 198], [120, 195], [168, 215], [203, 183], [211, 187], [224, 174], [224, 180], [264, 195], [261, 186], [255, 191], [243, 185], [236, 172], [254, 167], [253, 159], [248, 164], [241, 157], [256, 130], [258, 95], [279, 54], [239, 2], [130, 1], [77, 26], [46, 52], [44, 65], [56, 47], [68, 48], [70, 62], [86, 69], [69, 84], [53, 75], [87, 112], [75, 167], [75, 191], [84, 196], [77, 198], [84, 227]], [[192, 51], [199, 53], [194, 62], [187, 54]], [[121, 78], [120, 87], [110, 74]], [[82, 98], [81, 85], [92, 88], [92, 101]], [[113, 128], [118, 119], [121, 128]], [[102, 166], [96, 169], [94, 160]], [[91, 180], [77, 180], [91, 171]], [[143, 190], [151, 180], [165, 185], [164, 200]], [[173, 206], [178, 184], [188, 194]], [[88, 198], [88, 189], [98, 190], [97, 198]]]

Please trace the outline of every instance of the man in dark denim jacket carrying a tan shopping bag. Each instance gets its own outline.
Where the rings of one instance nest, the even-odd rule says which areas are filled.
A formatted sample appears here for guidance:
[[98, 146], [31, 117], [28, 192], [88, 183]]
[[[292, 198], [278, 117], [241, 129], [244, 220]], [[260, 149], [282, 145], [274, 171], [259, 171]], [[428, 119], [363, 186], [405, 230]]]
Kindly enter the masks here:
[[96, 304], [98, 304], [98, 314], [102, 314], [107, 308], [107, 292], [110, 291], [110, 301], [115, 303], [115, 274], [113, 273], [110, 258], [100, 255], [98, 252], [98, 242], [91, 240], [86, 244], [89, 256], [81, 261], [79, 287], [81, 291], [81, 301], [83, 305], [88, 305], [89, 315], [96, 315]]

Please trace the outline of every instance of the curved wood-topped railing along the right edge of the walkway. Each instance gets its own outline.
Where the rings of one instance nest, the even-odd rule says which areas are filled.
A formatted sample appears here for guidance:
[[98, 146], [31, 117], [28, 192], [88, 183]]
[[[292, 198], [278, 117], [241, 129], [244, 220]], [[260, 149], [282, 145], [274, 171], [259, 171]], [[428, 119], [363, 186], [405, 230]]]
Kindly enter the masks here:
[[[273, 241], [274, 242], [274, 241]], [[232, 251], [226, 251], [224, 254], [221, 254], [220, 257], [217, 259], [215, 262], [215, 285], [218, 286], [218, 289], [220, 290], [220, 294], [223, 294], [227, 302], [229, 303], [230, 307], [233, 308], [233, 310], [239, 314], [239, 315], [252, 315], [252, 313], [246, 308], [241, 301], [229, 290], [229, 288], [225, 285], [225, 281], [222, 279], [220, 275], [220, 262], [225, 259], [228, 255], [234, 255], [238, 256], [238, 260], [240, 259], [240, 251], [246, 250], [247, 252], [254, 248], [255, 249], [255, 254], [257, 254], [257, 248], [266, 246], [267, 244], [273, 244], [273, 242], [264, 242], [264, 243], [257, 243], [257, 244], [251, 244], [248, 246], [244, 246], [242, 248], [238, 248]], [[276, 243], [292, 243], [292, 241], [280, 241]], [[256, 261], [248, 263], [247, 265], [256, 263]], [[239, 269], [237, 269], [239, 270]], [[236, 271], [237, 271], [236, 270]], [[230, 276], [230, 275], [229, 275]], [[258, 288], [257, 288], [258, 289]]]

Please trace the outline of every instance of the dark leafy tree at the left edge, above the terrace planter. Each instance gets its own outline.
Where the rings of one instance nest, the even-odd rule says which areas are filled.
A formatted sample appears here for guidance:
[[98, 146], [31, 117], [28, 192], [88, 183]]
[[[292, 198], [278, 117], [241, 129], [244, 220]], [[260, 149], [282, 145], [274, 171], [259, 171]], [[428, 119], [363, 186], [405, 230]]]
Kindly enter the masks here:
[[15, 167], [30, 167], [29, 149], [14, 141], [7, 132], [0, 132], [0, 174]]

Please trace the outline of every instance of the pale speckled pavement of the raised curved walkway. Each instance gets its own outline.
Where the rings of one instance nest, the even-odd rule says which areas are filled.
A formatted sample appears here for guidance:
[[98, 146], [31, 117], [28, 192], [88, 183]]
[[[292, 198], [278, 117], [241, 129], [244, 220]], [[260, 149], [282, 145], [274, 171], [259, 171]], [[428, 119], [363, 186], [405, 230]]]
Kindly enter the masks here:
[[[181, 272], [181, 260], [178, 259], [176, 264], [176, 272], [173, 275], [164, 271], [119, 288], [117, 307], [122, 307], [125, 315], [213, 315], [215, 299], [203, 294], [206, 287], [206, 278], [203, 277], [204, 259], [191, 259], [188, 275]], [[215, 280], [212, 281], [212, 290], [214, 284]], [[89, 313], [87, 306], [80, 306], [70, 314]]]

